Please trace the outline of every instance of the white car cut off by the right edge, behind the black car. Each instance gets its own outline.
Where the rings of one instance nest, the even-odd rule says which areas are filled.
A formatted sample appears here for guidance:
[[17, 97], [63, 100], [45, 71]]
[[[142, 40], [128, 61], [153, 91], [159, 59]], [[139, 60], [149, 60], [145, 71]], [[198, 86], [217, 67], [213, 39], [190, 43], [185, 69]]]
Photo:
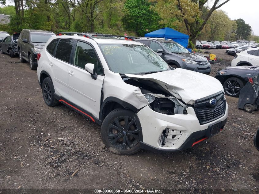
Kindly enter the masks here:
[[249, 48], [236, 54], [231, 66], [259, 66], [259, 47]]

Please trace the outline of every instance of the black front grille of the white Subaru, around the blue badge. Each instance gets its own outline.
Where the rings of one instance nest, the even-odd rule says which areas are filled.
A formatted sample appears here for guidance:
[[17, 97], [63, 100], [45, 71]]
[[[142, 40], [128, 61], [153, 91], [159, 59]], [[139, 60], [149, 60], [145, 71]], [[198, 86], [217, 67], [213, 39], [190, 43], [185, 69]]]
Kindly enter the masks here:
[[[215, 98], [217, 103], [211, 106], [209, 101]], [[215, 94], [207, 99], [200, 99], [194, 104], [194, 110], [200, 124], [206, 124], [222, 117], [226, 110], [226, 100], [223, 93]]]

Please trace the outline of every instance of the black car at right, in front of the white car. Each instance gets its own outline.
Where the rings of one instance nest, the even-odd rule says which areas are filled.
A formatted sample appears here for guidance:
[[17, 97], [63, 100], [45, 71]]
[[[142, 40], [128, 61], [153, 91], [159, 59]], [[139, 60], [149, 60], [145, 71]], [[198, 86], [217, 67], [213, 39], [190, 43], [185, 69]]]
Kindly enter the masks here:
[[239, 97], [240, 90], [248, 82], [248, 78], [255, 75], [259, 75], [259, 67], [239, 66], [223, 68], [217, 72], [215, 78], [223, 85], [226, 95]]

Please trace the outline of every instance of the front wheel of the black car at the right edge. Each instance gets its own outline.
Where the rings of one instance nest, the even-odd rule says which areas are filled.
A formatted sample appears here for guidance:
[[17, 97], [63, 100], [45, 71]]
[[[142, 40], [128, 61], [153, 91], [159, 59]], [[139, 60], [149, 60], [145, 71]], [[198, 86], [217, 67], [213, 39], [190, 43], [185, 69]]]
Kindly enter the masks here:
[[228, 78], [223, 84], [225, 93], [231, 97], [239, 97], [240, 90], [243, 87], [244, 83], [238, 78]]

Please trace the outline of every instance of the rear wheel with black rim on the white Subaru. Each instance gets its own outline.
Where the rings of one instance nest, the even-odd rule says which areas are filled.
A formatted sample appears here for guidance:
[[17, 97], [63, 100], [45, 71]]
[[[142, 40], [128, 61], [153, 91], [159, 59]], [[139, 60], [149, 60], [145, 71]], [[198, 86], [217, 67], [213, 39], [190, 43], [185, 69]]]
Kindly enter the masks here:
[[42, 95], [48, 106], [56, 106], [59, 101], [54, 97], [55, 89], [51, 78], [45, 78], [42, 82]]

